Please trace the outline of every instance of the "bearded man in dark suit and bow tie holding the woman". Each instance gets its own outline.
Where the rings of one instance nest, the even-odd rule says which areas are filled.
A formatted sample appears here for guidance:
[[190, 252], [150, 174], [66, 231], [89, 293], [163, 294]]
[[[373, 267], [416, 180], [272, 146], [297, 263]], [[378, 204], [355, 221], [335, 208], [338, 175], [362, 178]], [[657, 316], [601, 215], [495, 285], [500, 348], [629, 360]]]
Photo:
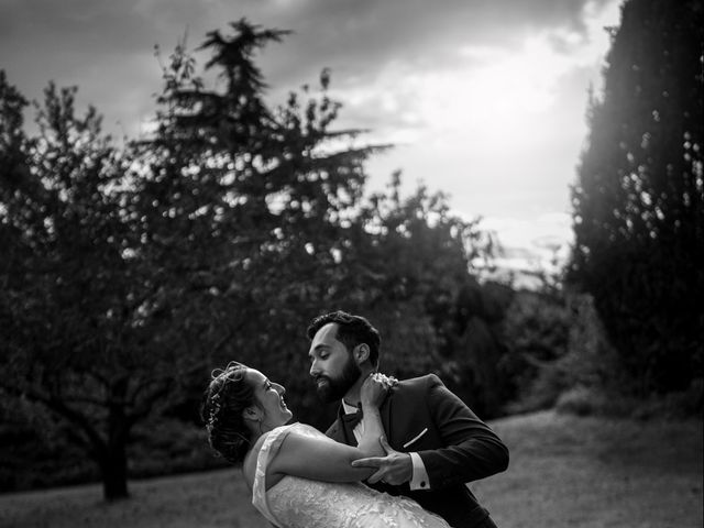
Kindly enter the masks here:
[[[310, 375], [326, 402], [341, 400], [328, 437], [356, 446], [360, 387], [378, 367], [381, 338], [363, 317], [334, 311], [308, 328]], [[377, 469], [367, 484], [406, 495], [455, 528], [495, 528], [465, 483], [506, 470], [508, 450], [435, 374], [399, 382], [381, 407], [386, 457], [354, 465]]]

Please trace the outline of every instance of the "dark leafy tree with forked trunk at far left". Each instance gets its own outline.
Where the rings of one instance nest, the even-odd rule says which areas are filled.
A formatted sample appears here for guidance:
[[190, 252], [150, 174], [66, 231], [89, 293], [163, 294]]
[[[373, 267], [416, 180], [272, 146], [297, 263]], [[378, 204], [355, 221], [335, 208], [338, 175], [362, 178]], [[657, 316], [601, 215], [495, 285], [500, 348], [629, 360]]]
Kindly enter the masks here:
[[[133, 232], [121, 206], [122, 161], [94, 109], [76, 116], [75, 89], [50, 85], [38, 134], [28, 139], [26, 101], [4, 75], [0, 84], [1, 383], [70, 421], [100, 464], [106, 496], [118, 497], [127, 494], [130, 427], [163, 397], [138, 374], [152, 343], [125, 253]], [[173, 372], [151, 364], [156, 377]]]

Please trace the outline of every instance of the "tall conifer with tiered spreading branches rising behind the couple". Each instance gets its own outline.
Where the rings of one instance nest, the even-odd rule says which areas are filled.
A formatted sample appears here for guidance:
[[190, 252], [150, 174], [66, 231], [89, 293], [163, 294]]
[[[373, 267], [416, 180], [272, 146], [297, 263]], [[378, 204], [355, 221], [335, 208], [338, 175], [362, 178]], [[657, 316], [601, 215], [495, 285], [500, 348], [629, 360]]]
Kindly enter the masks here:
[[[320, 406], [304, 375], [305, 329], [343, 278], [340, 240], [359, 211], [364, 161], [385, 145], [358, 144], [363, 131], [332, 129], [340, 103], [328, 96], [328, 70], [318, 91], [305, 87], [267, 106], [253, 53], [286, 32], [246, 20], [232, 26], [233, 36], [212, 32], [204, 44], [213, 57], [207, 66], [223, 81], [219, 90], [193, 75], [183, 47], [172, 56], [158, 133], [141, 145], [152, 173], [170, 176], [142, 180], [140, 207], [156, 200], [168, 209], [193, 200], [184, 185], [201, 188], [191, 211], [208, 227], [196, 238], [223, 250], [208, 263], [206, 283], [227, 304], [218, 308], [230, 328], [221, 356], [266, 367], [273, 378], [288, 380], [296, 369], [289, 400], [315, 419]], [[173, 229], [170, 220], [155, 220], [151, 229]]]

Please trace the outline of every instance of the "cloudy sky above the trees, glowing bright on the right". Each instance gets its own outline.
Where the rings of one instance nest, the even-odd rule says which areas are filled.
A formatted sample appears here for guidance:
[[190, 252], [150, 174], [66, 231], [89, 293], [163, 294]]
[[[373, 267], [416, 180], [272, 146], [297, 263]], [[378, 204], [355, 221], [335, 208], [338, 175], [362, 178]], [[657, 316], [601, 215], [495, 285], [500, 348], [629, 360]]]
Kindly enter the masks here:
[[[113, 135], [145, 133], [162, 61], [243, 16], [292, 30], [258, 56], [268, 99], [330, 68], [340, 127], [396, 146], [367, 190], [400, 169], [451, 210], [483, 218], [505, 267], [550, 267], [571, 241], [570, 185], [620, 0], [0, 0], [0, 69], [30, 99], [78, 86]], [[206, 56], [197, 55], [204, 65]], [[31, 116], [28, 116], [31, 118]]]

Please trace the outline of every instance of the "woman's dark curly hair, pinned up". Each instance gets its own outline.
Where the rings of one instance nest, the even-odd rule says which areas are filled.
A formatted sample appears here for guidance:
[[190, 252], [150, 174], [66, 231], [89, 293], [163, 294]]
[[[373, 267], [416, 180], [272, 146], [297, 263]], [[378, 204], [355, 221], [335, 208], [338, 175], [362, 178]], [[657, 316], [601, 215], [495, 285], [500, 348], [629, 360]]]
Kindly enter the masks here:
[[232, 361], [212, 371], [200, 409], [210, 447], [237, 465], [244, 460], [252, 437], [242, 411], [256, 403], [254, 387], [244, 378], [246, 370], [246, 365]]

